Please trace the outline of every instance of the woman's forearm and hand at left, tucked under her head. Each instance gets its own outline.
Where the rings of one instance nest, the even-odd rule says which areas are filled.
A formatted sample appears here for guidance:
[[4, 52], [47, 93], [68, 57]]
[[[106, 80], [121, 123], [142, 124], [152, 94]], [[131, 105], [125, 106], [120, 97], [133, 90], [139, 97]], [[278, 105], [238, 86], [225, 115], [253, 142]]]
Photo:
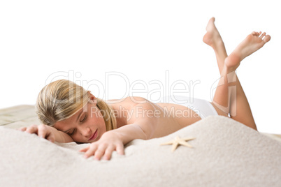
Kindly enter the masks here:
[[43, 137], [47, 140], [50, 140], [51, 142], [73, 142], [72, 138], [68, 134], [59, 131], [56, 128], [45, 126], [43, 124], [39, 126], [33, 125], [29, 127], [22, 127], [20, 128], [20, 130], [26, 131], [27, 133], [31, 134], [36, 134], [39, 137]]

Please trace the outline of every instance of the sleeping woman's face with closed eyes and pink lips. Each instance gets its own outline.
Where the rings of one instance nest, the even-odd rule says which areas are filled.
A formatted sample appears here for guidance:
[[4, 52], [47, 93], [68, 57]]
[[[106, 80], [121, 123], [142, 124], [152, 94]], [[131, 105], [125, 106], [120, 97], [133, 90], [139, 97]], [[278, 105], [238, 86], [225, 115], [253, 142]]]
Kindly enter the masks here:
[[81, 143], [96, 142], [106, 133], [103, 115], [94, 102], [87, 103], [69, 119], [58, 121], [54, 127]]

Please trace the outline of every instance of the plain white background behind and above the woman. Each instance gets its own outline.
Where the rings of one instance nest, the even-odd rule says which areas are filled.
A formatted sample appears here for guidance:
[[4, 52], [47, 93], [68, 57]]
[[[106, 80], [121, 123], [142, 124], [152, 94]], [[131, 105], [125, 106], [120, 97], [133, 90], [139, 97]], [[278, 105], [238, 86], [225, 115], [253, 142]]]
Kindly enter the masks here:
[[[228, 53], [252, 31], [271, 35], [237, 74], [258, 130], [281, 134], [278, 1], [0, 1], [0, 108], [34, 105], [45, 84], [68, 74], [104, 99], [147, 98], [159, 89], [152, 80], [166, 94], [166, 80], [181, 80], [200, 81], [194, 97], [210, 100], [219, 71], [202, 38], [212, 16]], [[108, 72], [120, 75], [106, 83]], [[144, 93], [128, 92], [145, 89], [136, 81]]]

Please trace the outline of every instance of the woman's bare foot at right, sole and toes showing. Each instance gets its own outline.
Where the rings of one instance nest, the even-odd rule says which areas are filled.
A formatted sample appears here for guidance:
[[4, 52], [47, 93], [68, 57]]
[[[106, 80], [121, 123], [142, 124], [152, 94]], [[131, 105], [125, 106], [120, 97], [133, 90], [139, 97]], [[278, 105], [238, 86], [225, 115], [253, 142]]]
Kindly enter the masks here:
[[236, 47], [229, 57], [225, 59], [224, 64], [228, 68], [236, 70], [240, 65], [240, 61], [259, 50], [269, 40], [271, 40], [271, 36], [266, 35], [266, 33], [252, 32]]

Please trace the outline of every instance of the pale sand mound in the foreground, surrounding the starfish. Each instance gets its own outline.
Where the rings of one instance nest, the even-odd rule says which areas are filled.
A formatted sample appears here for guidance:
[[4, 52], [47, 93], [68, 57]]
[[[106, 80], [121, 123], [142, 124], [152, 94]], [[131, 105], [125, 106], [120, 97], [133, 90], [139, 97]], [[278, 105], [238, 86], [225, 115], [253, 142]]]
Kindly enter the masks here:
[[[193, 148], [160, 145], [196, 137]], [[226, 117], [208, 117], [152, 140], [134, 140], [125, 156], [85, 159], [87, 144], [53, 144], [0, 127], [0, 186], [280, 186], [281, 143]]]

